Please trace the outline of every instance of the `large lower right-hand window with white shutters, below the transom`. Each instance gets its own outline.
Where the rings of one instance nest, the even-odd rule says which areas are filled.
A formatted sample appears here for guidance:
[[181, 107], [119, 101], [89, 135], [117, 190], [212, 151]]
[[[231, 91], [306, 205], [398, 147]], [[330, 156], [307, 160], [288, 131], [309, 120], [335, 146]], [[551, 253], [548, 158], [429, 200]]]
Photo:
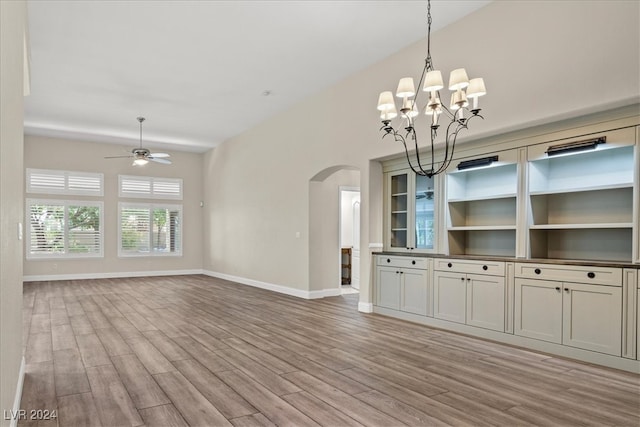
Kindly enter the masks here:
[[182, 206], [118, 204], [119, 256], [182, 255]]

